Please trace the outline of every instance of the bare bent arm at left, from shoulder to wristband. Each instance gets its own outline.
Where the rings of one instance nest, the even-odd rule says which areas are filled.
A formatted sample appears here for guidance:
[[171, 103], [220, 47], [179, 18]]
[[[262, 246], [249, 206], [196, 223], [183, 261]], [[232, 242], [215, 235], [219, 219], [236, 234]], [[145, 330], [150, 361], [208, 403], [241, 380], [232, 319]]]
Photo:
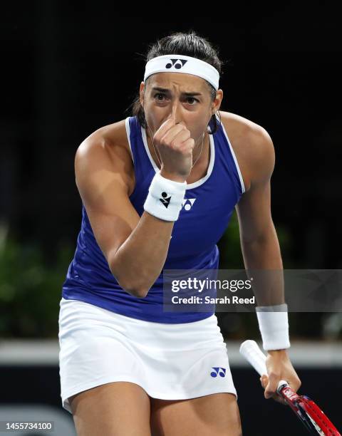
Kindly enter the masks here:
[[112, 133], [118, 143], [94, 133], [78, 147], [76, 185], [113, 276], [129, 294], [145, 297], [165, 264], [174, 223], [147, 212], [140, 218], [130, 202], [133, 164], [120, 123]]

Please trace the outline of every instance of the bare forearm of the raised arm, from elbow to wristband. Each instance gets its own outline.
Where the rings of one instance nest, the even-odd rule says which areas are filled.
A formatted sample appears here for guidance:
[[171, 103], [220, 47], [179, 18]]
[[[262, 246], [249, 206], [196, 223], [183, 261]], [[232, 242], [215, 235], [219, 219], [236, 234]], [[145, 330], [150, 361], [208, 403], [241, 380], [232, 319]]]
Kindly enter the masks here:
[[144, 212], [137, 227], [110, 261], [110, 269], [129, 294], [144, 297], [165, 264], [174, 222]]

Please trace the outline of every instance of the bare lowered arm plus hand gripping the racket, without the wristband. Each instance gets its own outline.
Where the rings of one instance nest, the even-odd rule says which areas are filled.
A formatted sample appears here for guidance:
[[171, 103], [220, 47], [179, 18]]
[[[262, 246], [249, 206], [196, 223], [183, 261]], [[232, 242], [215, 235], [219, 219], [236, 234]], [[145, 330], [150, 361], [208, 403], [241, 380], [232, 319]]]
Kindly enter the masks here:
[[[270, 180], [274, 170], [274, 146], [264, 129], [252, 133], [253, 177], [251, 187], [237, 205], [240, 240], [244, 265], [247, 270], [267, 270], [253, 286], [259, 306], [284, 303], [283, 264], [276, 229], [271, 218]], [[266, 367], [268, 375], [260, 378], [265, 398], [284, 403], [276, 388], [279, 380], [287, 380], [295, 391], [299, 380], [286, 349], [268, 351]]]

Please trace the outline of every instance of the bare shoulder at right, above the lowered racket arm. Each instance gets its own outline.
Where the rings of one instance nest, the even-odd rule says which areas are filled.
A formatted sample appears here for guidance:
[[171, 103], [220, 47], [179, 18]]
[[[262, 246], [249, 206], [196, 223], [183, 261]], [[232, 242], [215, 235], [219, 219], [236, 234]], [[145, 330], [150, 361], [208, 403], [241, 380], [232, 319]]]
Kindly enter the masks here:
[[252, 182], [269, 180], [274, 170], [274, 145], [269, 133], [261, 125], [240, 115], [224, 111], [220, 114], [246, 190]]

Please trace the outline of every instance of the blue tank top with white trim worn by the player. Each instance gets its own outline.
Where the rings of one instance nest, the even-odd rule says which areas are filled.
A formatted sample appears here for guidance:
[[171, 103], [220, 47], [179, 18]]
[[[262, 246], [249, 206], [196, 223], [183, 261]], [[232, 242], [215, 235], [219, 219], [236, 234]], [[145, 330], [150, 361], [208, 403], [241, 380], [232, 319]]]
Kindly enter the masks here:
[[[159, 170], [152, 160], [146, 131], [138, 118], [126, 118], [125, 125], [135, 171], [135, 189], [130, 195], [130, 202], [141, 217], [148, 188]], [[207, 175], [187, 185], [180, 217], [172, 229], [164, 269], [219, 267], [217, 242], [244, 192], [244, 182], [222, 124], [214, 135], [209, 135], [209, 142]], [[188, 323], [214, 313], [163, 311], [162, 273], [144, 299], [123, 290], [111, 274], [108, 262], [95, 240], [84, 205], [76, 252], [68, 268], [62, 296], [157, 323]]]

